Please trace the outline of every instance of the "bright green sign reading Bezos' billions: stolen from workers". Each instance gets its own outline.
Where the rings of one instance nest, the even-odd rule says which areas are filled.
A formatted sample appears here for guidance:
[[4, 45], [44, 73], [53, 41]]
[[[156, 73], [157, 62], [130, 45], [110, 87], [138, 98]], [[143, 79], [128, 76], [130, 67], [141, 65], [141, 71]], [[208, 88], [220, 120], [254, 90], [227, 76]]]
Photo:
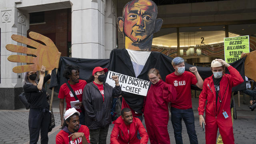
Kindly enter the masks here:
[[224, 53], [226, 62], [231, 63], [239, 60], [243, 52], [250, 52], [249, 36], [224, 38]]

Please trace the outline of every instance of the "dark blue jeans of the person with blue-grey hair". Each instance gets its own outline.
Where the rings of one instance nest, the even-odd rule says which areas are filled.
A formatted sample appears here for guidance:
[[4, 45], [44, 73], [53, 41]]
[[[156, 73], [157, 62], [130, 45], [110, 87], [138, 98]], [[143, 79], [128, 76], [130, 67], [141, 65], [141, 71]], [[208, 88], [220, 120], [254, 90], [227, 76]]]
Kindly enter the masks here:
[[181, 110], [178, 108], [171, 108], [172, 110], [172, 127], [174, 130], [174, 137], [176, 144], [183, 144], [182, 142], [182, 124], [181, 120], [183, 118], [187, 132], [190, 144], [198, 144], [197, 136], [196, 136], [196, 130], [195, 130], [195, 120], [194, 120], [194, 112], [192, 108], [187, 110]]

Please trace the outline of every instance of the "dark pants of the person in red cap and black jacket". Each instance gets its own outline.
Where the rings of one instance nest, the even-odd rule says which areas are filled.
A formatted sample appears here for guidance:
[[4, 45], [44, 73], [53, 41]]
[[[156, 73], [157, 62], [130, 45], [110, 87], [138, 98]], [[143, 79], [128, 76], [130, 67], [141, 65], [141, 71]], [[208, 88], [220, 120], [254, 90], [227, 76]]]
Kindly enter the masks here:
[[95, 130], [90, 130], [90, 142], [91, 144], [106, 144], [108, 136], [108, 126], [105, 128], [98, 128]]

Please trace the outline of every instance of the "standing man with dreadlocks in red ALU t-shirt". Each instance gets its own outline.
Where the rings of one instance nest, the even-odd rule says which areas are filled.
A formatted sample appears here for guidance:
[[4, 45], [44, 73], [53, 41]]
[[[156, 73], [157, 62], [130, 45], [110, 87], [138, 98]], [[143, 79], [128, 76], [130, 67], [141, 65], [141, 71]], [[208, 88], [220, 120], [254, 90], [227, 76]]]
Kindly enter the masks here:
[[84, 86], [87, 84], [85, 80], [79, 80], [79, 67], [78, 66], [71, 66], [66, 65], [65, 71], [63, 74], [63, 77], [65, 77], [68, 82], [64, 83], [60, 86], [60, 91], [58, 98], [60, 98], [60, 120], [61, 120], [61, 126], [63, 126], [64, 118], [63, 118], [63, 112], [64, 112], [64, 98], [66, 99], [66, 110], [71, 108], [70, 102], [76, 101], [76, 98], [72, 94], [71, 90], [68, 88], [69, 84], [71, 88], [74, 90], [76, 97], [78, 98], [79, 102], [75, 104], [76, 110], [80, 112], [80, 124], [84, 125], [84, 113], [82, 112], [82, 94], [84, 90]]

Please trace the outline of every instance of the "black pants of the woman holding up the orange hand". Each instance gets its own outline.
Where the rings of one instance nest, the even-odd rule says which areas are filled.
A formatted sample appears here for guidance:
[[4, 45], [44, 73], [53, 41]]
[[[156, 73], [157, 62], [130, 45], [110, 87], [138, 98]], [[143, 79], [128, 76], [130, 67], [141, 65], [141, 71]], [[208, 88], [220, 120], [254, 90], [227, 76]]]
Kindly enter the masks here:
[[41, 144], [48, 144], [49, 123], [50, 112], [48, 109], [30, 108], [28, 116], [30, 144], [38, 142], [39, 132], [41, 133]]

